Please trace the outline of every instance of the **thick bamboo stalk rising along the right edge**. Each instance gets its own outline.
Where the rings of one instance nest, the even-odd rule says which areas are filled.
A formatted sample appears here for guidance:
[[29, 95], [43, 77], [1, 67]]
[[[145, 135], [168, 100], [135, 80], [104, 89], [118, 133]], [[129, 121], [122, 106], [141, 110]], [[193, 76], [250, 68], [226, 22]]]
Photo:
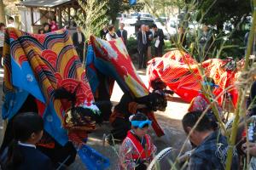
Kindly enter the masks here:
[[[250, 52], [253, 48], [253, 38], [254, 38], [254, 30], [255, 30], [255, 25], [256, 25], [256, 0], [253, 0], [253, 23], [252, 23], [252, 27], [251, 27], [251, 31], [249, 34], [249, 38], [248, 38], [248, 46], [247, 46], [247, 54], [246, 54], [246, 59], [245, 59], [245, 67], [244, 67], [244, 71], [247, 71], [249, 68], [249, 55]], [[232, 127], [232, 132], [231, 132], [231, 136], [230, 136], [230, 147], [228, 150], [228, 156], [227, 156], [227, 160], [226, 160], [226, 170], [230, 170], [231, 165], [232, 165], [232, 157], [233, 157], [233, 149], [235, 147], [235, 143], [236, 143], [236, 133], [237, 133], [237, 127], [238, 127], [238, 123], [239, 123], [239, 119], [240, 119], [240, 114], [241, 114], [241, 96], [242, 96], [242, 92], [246, 91], [247, 87], [242, 89], [240, 87], [239, 89], [239, 94], [238, 94], [238, 101], [237, 101], [237, 106], [236, 106], [236, 111], [235, 111], [235, 120], [233, 123], [233, 127]]]

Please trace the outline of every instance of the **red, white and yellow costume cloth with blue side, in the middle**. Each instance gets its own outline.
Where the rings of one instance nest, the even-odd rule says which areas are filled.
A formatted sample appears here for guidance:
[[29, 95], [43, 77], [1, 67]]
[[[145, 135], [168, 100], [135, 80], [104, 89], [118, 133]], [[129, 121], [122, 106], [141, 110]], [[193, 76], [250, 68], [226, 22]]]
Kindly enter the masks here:
[[[149, 94], [148, 88], [146, 88], [132, 64], [125, 43], [121, 38], [105, 41], [98, 37], [90, 37], [86, 72], [93, 93], [96, 92], [99, 84], [97, 71], [107, 77], [112, 77], [118, 82], [119, 87], [125, 94], [131, 94], [131, 96], [137, 98]], [[152, 127], [157, 135], [163, 135], [164, 133], [157, 124], [153, 112], [148, 113], [147, 116], [153, 121]]]

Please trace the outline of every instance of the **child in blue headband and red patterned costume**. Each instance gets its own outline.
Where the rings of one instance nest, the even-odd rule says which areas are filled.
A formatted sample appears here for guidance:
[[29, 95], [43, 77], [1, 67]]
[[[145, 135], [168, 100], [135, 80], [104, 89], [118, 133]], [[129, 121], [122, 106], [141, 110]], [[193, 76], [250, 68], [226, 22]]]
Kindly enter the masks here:
[[119, 169], [146, 170], [156, 151], [147, 134], [151, 121], [142, 113], [131, 116], [130, 120], [131, 130], [119, 150]]

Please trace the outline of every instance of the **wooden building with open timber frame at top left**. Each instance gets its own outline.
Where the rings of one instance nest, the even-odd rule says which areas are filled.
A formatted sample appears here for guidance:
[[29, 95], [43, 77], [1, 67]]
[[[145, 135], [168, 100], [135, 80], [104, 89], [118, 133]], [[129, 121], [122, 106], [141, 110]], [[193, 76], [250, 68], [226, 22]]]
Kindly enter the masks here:
[[37, 33], [49, 19], [55, 19], [59, 28], [72, 26], [79, 3], [77, 0], [26, 0], [18, 5], [23, 31]]

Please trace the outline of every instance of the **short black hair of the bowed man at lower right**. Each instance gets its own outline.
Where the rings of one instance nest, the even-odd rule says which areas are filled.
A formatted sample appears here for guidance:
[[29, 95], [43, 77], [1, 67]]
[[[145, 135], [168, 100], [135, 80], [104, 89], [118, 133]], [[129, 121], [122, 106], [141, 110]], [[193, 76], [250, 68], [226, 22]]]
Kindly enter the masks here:
[[[191, 111], [188, 112], [185, 116], [183, 116], [183, 129], [186, 133], [188, 132], [187, 127], [194, 127], [195, 123], [198, 121], [199, 117], [202, 115], [202, 111]], [[218, 127], [218, 124], [215, 119], [212, 119], [211, 116], [207, 114], [202, 116], [201, 121], [195, 127], [196, 131], [205, 132], [209, 130], [214, 130]]]

